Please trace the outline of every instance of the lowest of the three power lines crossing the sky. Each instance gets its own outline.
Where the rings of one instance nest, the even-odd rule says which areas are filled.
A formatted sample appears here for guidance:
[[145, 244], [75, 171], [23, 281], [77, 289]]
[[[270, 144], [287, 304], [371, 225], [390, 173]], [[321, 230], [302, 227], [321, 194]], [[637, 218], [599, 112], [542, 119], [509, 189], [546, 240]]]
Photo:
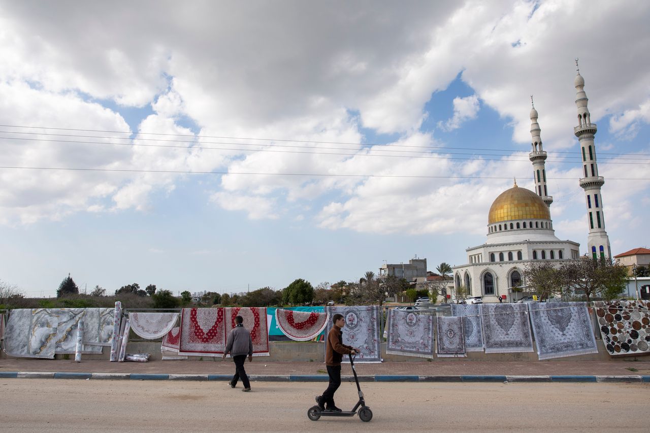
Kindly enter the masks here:
[[[188, 170], [138, 170], [135, 168], [73, 168], [73, 167], [19, 167], [0, 166], [14, 170], [68, 170], [77, 172], [125, 172], [162, 174], [237, 174], [246, 176], [305, 176], [305, 177], [406, 177], [413, 179], [512, 179], [512, 176], [416, 176], [401, 174], [330, 174], [330, 173], [255, 173], [255, 172], [192, 172]], [[525, 179], [527, 176], [521, 176]], [[575, 177], [555, 177], [554, 179], [575, 181]], [[608, 177], [608, 180], [640, 181], [650, 177]]]

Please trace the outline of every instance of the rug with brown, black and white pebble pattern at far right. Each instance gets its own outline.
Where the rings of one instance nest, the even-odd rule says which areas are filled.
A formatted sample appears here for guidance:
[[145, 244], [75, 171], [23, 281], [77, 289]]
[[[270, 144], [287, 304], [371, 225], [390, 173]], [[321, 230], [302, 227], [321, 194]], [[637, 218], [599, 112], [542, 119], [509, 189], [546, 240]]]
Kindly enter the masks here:
[[597, 301], [593, 306], [610, 355], [650, 353], [649, 301]]

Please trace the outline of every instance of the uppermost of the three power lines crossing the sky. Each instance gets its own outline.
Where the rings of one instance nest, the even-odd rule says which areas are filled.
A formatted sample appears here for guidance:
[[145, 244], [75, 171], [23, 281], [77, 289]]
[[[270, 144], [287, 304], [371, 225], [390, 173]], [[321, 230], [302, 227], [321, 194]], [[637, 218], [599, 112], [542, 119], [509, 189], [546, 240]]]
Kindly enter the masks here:
[[[131, 131], [110, 131], [105, 129], [77, 129], [77, 128], [62, 128], [62, 127], [47, 127], [47, 126], [25, 126], [25, 125], [1, 125], [0, 127], [13, 127], [25, 129], [53, 129], [55, 131], [80, 131], [80, 132], [97, 132], [97, 133], [112, 133], [112, 134], [128, 134], [131, 135], [160, 135], [164, 137], [188, 137], [188, 138], [218, 138], [224, 140], [253, 140], [253, 141], [276, 141], [276, 142], [296, 142], [296, 143], [315, 143], [315, 144], [344, 144], [349, 146], [392, 146], [386, 143], [353, 143], [353, 142], [339, 142], [339, 141], [318, 141], [318, 140], [294, 140], [286, 138], [255, 138], [255, 137], [227, 137], [218, 135], [190, 135], [190, 134], [170, 134], [170, 133], [148, 133], [148, 132], [131, 132]], [[38, 133], [35, 133], [38, 134]], [[131, 137], [129, 137], [131, 138]], [[139, 138], [144, 139], [144, 138]], [[151, 138], [149, 138], [151, 139]], [[400, 148], [424, 148], [424, 149], [451, 149], [451, 150], [489, 150], [489, 151], [504, 151], [504, 152], [526, 152], [525, 150], [512, 150], [512, 149], [488, 149], [488, 148], [459, 148], [454, 146], [400, 146]], [[575, 154], [574, 151], [560, 151], [556, 150], [552, 153], [570, 153]], [[599, 153], [599, 155], [626, 155], [626, 153]], [[640, 156], [650, 156], [650, 154], [638, 154]]]

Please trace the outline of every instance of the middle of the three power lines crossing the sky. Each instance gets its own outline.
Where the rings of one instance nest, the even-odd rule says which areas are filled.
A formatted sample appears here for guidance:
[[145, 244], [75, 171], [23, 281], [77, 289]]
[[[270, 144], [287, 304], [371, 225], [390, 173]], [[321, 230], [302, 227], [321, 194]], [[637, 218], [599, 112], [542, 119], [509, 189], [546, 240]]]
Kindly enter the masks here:
[[[3, 132], [3, 131], [0, 131]], [[99, 137], [103, 138], [103, 137]], [[108, 138], [108, 137], [107, 137]], [[112, 142], [103, 142], [103, 141], [76, 141], [76, 140], [59, 140], [54, 138], [23, 138], [23, 137], [0, 137], [2, 140], [23, 140], [23, 141], [44, 141], [44, 142], [59, 142], [59, 143], [68, 143], [68, 144], [92, 144], [97, 146], [142, 146], [148, 148], [179, 148], [186, 150], [223, 150], [223, 151], [238, 151], [238, 152], [271, 152], [271, 153], [302, 153], [307, 155], [334, 155], [334, 156], [360, 156], [360, 157], [393, 157], [393, 158], [419, 158], [419, 159], [456, 159], [461, 161], [513, 161], [513, 162], [528, 162], [526, 159], [516, 159], [515, 157], [510, 157], [509, 155], [495, 155], [495, 154], [486, 154], [489, 156], [500, 156], [500, 158], [479, 158], [481, 154], [474, 154], [474, 157], [463, 158], [463, 157], [443, 157], [443, 156], [424, 156], [424, 155], [374, 155], [372, 153], [339, 153], [339, 152], [318, 152], [318, 151], [300, 151], [300, 150], [272, 150], [272, 149], [233, 149], [233, 148], [216, 148], [209, 146], [177, 146], [172, 144], [142, 144], [142, 143], [112, 143]], [[124, 138], [121, 138], [124, 139]], [[175, 140], [155, 140], [155, 141], [175, 141]], [[222, 144], [233, 144], [239, 145], [239, 143], [222, 143]], [[248, 146], [261, 146], [260, 144], [248, 144]], [[295, 146], [286, 146], [286, 147], [295, 147]], [[304, 149], [304, 148], [303, 148]], [[308, 148], [311, 149], [311, 148]], [[365, 149], [361, 149], [365, 150]], [[349, 151], [355, 151], [349, 149]], [[396, 153], [411, 153], [415, 151], [400, 151], [400, 150], [372, 150], [372, 151], [385, 151], [385, 152], [396, 152]], [[428, 152], [419, 152], [419, 153], [428, 153]], [[445, 152], [447, 153], [447, 152]], [[429, 153], [428, 153], [429, 154]], [[439, 154], [439, 153], [436, 153]], [[471, 153], [452, 153], [456, 155], [473, 155]], [[572, 158], [572, 157], [569, 157]], [[573, 157], [578, 158], [578, 157]], [[634, 158], [630, 158], [634, 159]], [[638, 160], [638, 159], [634, 159]], [[547, 160], [547, 162], [554, 162], [560, 164], [575, 164], [576, 161], [563, 161], [563, 160]], [[618, 162], [602, 162], [601, 164], [629, 164], [629, 165], [643, 165], [650, 164], [650, 160], [647, 163], [618, 163]]]

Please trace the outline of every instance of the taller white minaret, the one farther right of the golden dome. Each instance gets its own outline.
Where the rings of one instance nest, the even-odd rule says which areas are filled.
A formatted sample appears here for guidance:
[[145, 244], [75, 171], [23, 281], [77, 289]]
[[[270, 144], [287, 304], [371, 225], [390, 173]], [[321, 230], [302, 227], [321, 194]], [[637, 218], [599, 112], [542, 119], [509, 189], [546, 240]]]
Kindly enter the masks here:
[[612, 257], [610, 253], [609, 237], [605, 231], [605, 218], [603, 213], [603, 196], [601, 187], [605, 183], [603, 176], [598, 176], [596, 162], [596, 147], [593, 136], [597, 128], [591, 123], [589, 109], [587, 108], [587, 94], [584, 92], [584, 78], [578, 69], [578, 59], [575, 59], [578, 75], [575, 77], [575, 106], [578, 109], [578, 126], [573, 128], [573, 133], [580, 140], [580, 155], [582, 157], [582, 172], [580, 187], [584, 189], [587, 202], [587, 224], [589, 235], [587, 237], [588, 254], [593, 258]]

